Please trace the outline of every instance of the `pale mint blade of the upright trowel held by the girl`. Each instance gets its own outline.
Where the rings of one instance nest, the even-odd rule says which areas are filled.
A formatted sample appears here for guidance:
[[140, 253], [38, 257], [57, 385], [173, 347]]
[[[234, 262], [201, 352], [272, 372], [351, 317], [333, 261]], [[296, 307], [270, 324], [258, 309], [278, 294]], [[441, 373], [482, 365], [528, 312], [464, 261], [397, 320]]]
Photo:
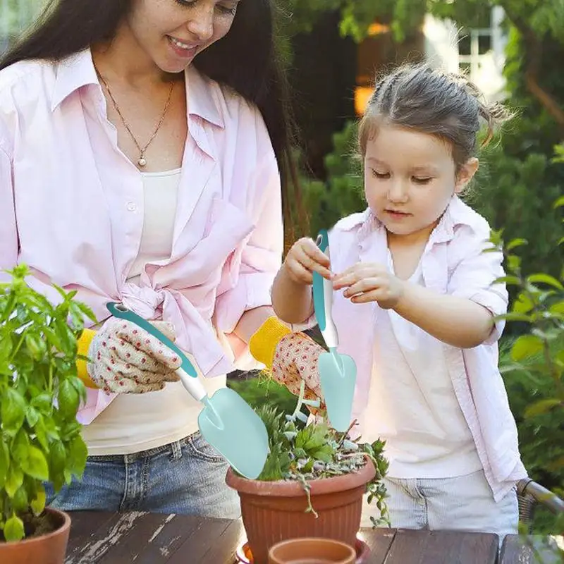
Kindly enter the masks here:
[[319, 379], [329, 423], [333, 429], [344, 433], [350, 426], [353, 413], [357, 367], [349, 355], [338, 357], [339, 362], [336, 362], [331, 353], [319, 355]]

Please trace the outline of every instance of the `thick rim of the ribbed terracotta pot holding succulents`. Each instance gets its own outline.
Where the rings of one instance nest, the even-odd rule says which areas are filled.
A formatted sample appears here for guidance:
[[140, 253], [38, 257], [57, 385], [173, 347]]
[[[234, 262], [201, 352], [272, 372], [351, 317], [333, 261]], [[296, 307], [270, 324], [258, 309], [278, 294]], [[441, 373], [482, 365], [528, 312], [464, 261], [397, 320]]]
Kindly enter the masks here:
[[[335, 491], [346, 491], [355, 489], [362, 484], [367, 484], [376, 475], [374, 463], [368, 456], [365, 456], [366, 463], [359, 470], [331, 476], [329, 478], [319, 478], [309, 480], [307, 484], [311, 487], [312, 496], [322, 494], [332, 494]], [[231, 466], [227, 470], [226, 484], [237, 490], [240, 494], [253, 494], [255, 496], [278, 496], [296, 497], [305, 496], [302, 484], [295, 480], [275, 480], [267, 482], [263, 480], [247, 479], [235, 474]]]

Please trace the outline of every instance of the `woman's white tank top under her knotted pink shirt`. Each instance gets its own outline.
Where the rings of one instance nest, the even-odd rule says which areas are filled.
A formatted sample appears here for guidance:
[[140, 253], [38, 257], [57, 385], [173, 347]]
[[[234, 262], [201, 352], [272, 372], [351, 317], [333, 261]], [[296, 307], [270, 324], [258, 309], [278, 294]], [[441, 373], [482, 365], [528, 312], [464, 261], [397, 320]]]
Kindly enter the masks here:
[[[145, 216], [137, 258], [128, 282], [135, 283], [147, 262], [171, 256], [180, 168], [142, 173]], [[187, 355], [190, 360], [193, 358]], [[196, 366], [196, 364], [195, 364]], [[226, 376], [200, 379], [209, 395], [226, 386]], [[164, 390], [118, 395], [90, 424], [82, 436], [90, 455], [131, 454], [157, 448], [197, 431], [202, 404], [185, 391], [180, 382]]]

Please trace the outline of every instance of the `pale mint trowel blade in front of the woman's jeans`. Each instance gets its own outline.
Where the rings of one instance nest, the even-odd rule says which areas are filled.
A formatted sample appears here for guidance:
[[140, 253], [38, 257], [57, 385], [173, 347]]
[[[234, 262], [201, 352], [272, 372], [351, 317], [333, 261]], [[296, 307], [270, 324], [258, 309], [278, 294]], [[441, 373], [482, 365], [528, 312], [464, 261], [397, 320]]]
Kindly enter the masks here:
[[231, 388], [221, 388], [204, 402], [200, 433], [245, 478], [256, 479], [269, 454], [262, 419]]

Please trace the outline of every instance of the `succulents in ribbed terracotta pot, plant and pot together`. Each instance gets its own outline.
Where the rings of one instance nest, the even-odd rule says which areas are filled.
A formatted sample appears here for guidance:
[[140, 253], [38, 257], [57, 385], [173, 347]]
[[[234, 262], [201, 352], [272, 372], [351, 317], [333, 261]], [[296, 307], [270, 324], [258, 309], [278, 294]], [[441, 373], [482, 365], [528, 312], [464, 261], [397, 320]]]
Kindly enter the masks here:
[[[270, 453], [255, 480], [230, 468], [226, 483], [238, 491], [248, 548], [254, 564], [266, 564], [271, 546], [295, 537], [324, 537], [357, 544], [362, 497], [369, 492], [381, 512], [374, 526], [387, 523], [388, 470], [384, 443], [350, 440], [319, 415], [307, 424], [304, 384], [292, 415], [263, 405], [257, 413], [269, 435]], [[351, 425], [352, 427], [352, 425]]]

